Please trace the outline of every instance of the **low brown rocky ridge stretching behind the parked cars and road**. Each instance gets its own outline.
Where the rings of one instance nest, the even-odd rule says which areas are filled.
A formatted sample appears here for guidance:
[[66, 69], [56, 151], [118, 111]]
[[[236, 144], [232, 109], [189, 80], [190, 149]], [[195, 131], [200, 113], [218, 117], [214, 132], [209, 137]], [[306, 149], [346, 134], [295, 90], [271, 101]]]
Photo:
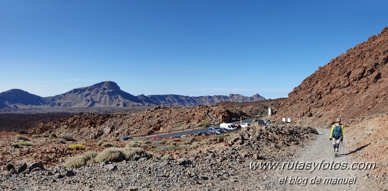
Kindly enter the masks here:
[[[280, 99], [281, 100], [281, 99]], [[278, 100], [265, 100], [249, 103], [223, 102], [211, 106], [201, 105], [192, 108], [167, 108], [156, 106], [140, 112], [131, 113], [78, 113], [63, 114], [60, 119], [55, 114], [43, 115], [51, 118], [43, 121], [35, 116], [42, 114], [0, 114], [0, 128], [13, 127], [30, 134], [61, 137], [70, 133], [76, 139], [114, 139], [123, 136], [140, 136], [170, 130], [199, 127], [203, 124], [218, 124], [242, 119], [268, 116], [268, 107], [277, 108]], [[12, 117], [13, 116], [13, 117]], [[24, 118], [24, 120], [19, 120]], [[34, 127], [25, 123], [34, 124]], [[25, 128], [23, 128], [25, 127]]]

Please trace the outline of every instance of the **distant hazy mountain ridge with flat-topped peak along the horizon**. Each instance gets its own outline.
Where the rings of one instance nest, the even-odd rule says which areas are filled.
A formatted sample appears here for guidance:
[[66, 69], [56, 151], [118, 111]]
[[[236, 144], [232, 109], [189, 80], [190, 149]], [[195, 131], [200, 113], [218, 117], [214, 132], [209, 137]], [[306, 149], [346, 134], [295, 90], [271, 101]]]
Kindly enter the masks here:
[[64, 94], [40, 97], [19, 89], [0, 93], [2, 108], [35, 108], [35, 107], [127, 107], [127, 106], [173, 106], [193, 107], [210, 105], [219, 102], [249, 102], [266, 100], [259, 94], [251, 97], [230, 94], [229, 96], [180, 96], [150, 95], [134, 96], [120, 89], [113, 81], [103, 81], [91, 86], [76, 88]]

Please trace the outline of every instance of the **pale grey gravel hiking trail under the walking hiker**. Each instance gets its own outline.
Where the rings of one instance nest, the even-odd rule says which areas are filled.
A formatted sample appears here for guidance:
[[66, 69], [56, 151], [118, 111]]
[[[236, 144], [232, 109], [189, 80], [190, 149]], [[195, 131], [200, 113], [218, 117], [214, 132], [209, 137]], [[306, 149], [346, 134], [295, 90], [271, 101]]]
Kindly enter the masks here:
[[[334, 161], [332, 167], [336, 167], [334, 164], [346, 163], [347, 167], [351, 166], [353, 162], [361, 162], [354, 161], [351, 159], [351, 155], [357, 150], [353, 151], [352, 149], [346, 148], [346, 133], [344, 139], [344, 150], [341, 149], [341, 152], [338, 154], [337, 158], [334, 158], [333, 145], [332, 142], [329, 141], [331, 129], [317, 129], [318, 135], [316, 140], [314, 140], [311, 144], [306, 146], [306, 148], [301, 152], [295, 155], [295, 158], [292, 161], [286, 162], [296, 162], [298, 161], [298, 166], [302, 166], [301, 162], [321, 162], [321, 169], [317, 166], [315, 170], [310, 168], [309, 170], [299, 170], [297, 169], [286, 169], [286, 170], [267, 170], [273, 171], [274, 174], [270, 176], [270, 178], [265, 180], [264, 188], [268, 190], [276, 190], [276, 191], [355, 191], [355, 190], [374, 190], [372, 188], [372, 184], [370, 180], [367, 179], [367, 173], [365, 170], [352, 170], [346, 168], [345, 170], [337, 169], [330, 170], [324, 169], [328, 168], [327, 165]], [[326, 163], [325, 165], [323, 165]], [[291, 165], [290, 165], [291, 166]], [[307, 165], [305, 165], [307, 166]], [[291, 167], [292, 168], [292, 167]], [[297, 176], [297, 178], [296, 178]], [[287, 177], [287, 179], [285, 179]], [[314, 177], [315, 183], [314, 183]], [[321, 182], [318, 184], [317, 179], [321, 179]], [[324, 183], [325, 178], [343, 178], [348, 179], [347, 184], [335, 183], [334, 181], [330, 183]], [[349, 184], [350, 178], [355, 179], [355, 182]], [[311, 183], [313, 181], [313, 183]], [[282, 182], [282, 183], [280, 183]], [[304, 185], [305, 183], [305, 185]], [[304, 186], [302, 186], [304, 185]]]

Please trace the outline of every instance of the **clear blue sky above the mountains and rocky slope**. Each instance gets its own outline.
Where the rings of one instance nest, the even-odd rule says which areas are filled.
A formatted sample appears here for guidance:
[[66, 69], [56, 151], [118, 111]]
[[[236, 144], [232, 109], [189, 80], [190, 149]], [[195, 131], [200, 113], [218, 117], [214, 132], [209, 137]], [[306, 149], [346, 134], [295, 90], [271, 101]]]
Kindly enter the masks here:
[[388, 25], [387, 0], [1, 0], [0, 92], [287, 97]]

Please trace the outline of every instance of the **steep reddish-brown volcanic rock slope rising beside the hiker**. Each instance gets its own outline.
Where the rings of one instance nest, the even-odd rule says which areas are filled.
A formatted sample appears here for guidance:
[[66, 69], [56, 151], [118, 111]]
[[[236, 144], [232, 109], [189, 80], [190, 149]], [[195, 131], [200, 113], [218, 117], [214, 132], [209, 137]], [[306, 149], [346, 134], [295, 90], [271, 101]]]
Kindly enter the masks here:
[[388, 28], [339, 55], [295, 87], [272, 119], [324, 126], [388, 111]]

